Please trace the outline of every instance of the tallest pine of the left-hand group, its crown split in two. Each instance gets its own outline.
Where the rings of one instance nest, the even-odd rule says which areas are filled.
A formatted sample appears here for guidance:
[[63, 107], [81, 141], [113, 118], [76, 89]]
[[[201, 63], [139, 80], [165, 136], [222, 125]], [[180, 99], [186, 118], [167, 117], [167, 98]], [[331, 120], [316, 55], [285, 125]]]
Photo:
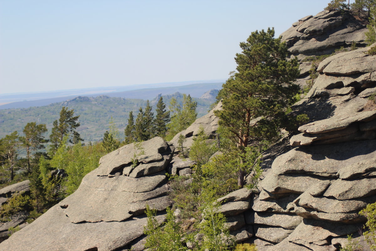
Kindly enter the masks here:
[[53, 128], [50, 135], [50, 142], [52, 152], [55, 152], [61, 145], [65, 135], [69, 136], [69, 142], [76, 144], [83, 140], [80, 134], [76, 131], [80, 123], [77, 122], [80, 116], [73, 116], [74, 110], [68, 110], [67, 107], [62, 107], [60, 111], [59, 120], [53, 122]]

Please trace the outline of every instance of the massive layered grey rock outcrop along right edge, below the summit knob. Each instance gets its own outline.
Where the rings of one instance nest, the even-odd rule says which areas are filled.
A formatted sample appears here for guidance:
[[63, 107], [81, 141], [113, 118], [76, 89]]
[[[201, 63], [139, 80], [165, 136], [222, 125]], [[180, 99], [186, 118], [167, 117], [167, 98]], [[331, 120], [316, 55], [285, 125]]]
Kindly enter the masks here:
[[321, 62], [311, 91], [294, 105], [311, 122], [290, 139], [297, 147], [275, 158], [244, 212], [258, 250], [334, 251], [347, 234], [369, 250], [358, 234], [365, 222], [358, 212], [376, 202], [376, 106], [367, 99], [376, 91], [376, 55], [368, 49]]

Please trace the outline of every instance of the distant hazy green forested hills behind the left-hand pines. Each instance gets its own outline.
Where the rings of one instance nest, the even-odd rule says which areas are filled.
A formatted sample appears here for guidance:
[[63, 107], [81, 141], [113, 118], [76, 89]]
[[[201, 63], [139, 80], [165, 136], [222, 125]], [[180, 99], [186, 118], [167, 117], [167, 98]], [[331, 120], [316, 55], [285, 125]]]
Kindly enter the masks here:
[[[159, 99], [159, 96], [157, 96]], [[155, 111], [157, 97], [150, 100]], [[174, 93], [163, 96], [167, 107], [171, 97], [175, 97], [178, 102], [182, 102], [183, 95]], [[197, 102], [197, 114], [203, 116], [208, 112], [209, 106], [214, 100], [194, 99]], [[5, 109], [0, 110], [0, 137], [10, 134], [13, 131], [21, 132], [24, 126], [29, 122], [37, 122], [47, 125], [47, 129], [52, 128], [52, 122], [59, 117], [62, 106], [74, 109], [74, 113], [79, 115], [80, 127], [77, 131], [85, 142], [97, 141], [103, 138], [103, 134], [109, 129], [109, 122], [112, 120], [114, 125], [121, 131], [126, 126], [129, 112], [138, 113], [140, 106], [145, 106], [146, 100], [143, 99], [124, 99], [121, 97], [76, 97], [74, 99], [53, 103], [46, 106], [37, 106], [30, 108]]]

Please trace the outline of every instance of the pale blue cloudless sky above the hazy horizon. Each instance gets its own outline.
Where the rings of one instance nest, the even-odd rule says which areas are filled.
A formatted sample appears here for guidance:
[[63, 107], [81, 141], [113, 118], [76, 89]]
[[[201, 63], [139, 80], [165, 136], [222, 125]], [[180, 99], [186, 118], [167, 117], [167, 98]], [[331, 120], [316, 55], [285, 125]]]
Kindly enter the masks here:
[[0, 0], [0, 94], [227, 79], [251, 32], [328, 2]]

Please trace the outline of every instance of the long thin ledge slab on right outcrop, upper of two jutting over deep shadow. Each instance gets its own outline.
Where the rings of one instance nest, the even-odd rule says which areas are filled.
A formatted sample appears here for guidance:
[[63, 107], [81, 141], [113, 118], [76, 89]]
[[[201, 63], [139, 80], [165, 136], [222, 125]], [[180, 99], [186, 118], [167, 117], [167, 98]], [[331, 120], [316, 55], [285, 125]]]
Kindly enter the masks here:
[[376, 111], [362, 111], [355, 114], [344, 114], [329, 119], [318, 120], [298, 128], [301, 132], [317, 134], [344, 129], [354, 122], [368, 122], [376, 119]]

